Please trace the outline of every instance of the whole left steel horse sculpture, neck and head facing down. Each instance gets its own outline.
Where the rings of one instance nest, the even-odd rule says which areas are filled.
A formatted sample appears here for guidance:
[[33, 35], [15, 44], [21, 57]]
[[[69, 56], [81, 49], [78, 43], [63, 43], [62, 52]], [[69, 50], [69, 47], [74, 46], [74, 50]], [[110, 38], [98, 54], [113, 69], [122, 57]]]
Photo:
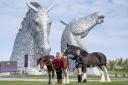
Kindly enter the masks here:
[[43, 8], [37, 2], [26, 4], [28, 11], [16, 36], [10, 60], [17, 61], [18, 67], [24, 67], [24, 56], [27, 55], [28, 67], [35, 67], [38, 58], [50, 54], [51, 19], [48, 13], [53, 5]]

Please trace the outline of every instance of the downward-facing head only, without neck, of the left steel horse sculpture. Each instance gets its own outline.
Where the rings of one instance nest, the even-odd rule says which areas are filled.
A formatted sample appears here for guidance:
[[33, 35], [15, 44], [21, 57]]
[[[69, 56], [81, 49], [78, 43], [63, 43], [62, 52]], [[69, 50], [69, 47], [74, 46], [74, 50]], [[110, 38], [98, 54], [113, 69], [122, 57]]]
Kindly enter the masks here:
[[48, 9], [42, 8], [38, 3], [31, 2], [27, 3], [29, 11], [27, 14], [31, 14], [30, 17], [30, 28], [34, 40], [35, 55], [41, 57], [50, 53], [49, 45], [49, 33], [51, 27], [51, 19], [48, 16]]

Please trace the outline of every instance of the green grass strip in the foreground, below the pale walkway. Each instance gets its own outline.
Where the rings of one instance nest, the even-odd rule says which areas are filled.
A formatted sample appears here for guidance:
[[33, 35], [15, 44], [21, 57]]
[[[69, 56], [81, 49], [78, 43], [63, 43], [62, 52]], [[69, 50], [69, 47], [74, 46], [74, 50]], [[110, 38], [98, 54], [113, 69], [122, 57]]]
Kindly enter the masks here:
[[[48, 85], [47, 82], [30, 82], [30, 81], [0, 81], [0, 85]], [[113, 81], [111, 83], [88, 82], [77, 83], [71, 82], [67, 85], [128, 85], [128, 81]]]

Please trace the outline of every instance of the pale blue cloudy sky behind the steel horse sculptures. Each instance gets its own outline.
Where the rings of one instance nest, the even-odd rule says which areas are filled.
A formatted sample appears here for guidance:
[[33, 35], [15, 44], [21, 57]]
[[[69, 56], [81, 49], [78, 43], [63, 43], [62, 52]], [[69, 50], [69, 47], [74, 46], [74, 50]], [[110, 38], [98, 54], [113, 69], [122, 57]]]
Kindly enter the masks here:
[[94, 27], [83, 44], [89, 52], [103, 52], [107, 58], [128, 57], [128, 0], [0, 0], [0, 61], [9, 60], [16, 34], [27, 12], [26, 2], [37, 1], [42, 7], [56, 4], [49, 13], [51, 54], [60, 51], [65, 28], [59, 21], [86, 16], [96, 11], [105, 15], [103, 24]]

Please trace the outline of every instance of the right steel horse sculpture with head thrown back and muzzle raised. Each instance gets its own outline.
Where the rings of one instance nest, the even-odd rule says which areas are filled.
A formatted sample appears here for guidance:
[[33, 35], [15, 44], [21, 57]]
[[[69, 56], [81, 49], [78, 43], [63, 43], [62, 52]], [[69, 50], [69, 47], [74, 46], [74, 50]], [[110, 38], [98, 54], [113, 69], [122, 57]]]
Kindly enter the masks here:
[[61, 51], [64, 52], [67, 44], [85, 49], [80, 40], [85, 38], [94, 26], [101, 24], [103, 21], [104, 16], [100, 12], [74, 19], [69, 24], [61, 21], [62, 24], [66, 25], [61, 38]]

